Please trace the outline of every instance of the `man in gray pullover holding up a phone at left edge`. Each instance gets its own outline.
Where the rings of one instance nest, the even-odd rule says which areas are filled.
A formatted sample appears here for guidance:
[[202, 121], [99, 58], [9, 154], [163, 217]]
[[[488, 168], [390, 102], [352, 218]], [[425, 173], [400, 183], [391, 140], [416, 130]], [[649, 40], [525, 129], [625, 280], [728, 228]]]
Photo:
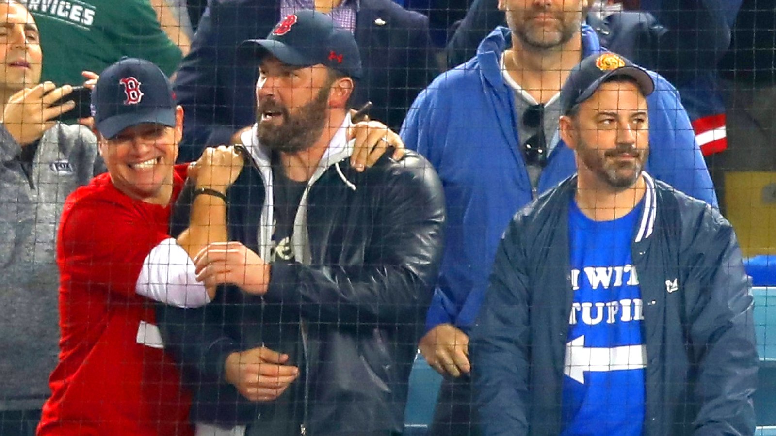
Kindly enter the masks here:
[[[39, 83], [43, 54], [29, 12], [0, 1], [0, 434], [34, 434], [57, 363], [54, 234], [64, 199], [102, 172], [70, 85]], [[57, 104], [64, 97], [65, 102]]]

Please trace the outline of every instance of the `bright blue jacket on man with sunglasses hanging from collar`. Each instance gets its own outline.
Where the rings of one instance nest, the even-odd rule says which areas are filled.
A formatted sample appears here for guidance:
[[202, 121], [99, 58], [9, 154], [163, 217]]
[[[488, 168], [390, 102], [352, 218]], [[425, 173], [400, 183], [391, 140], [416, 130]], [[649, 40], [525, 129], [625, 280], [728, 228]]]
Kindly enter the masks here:
[[[435, 79], [418, 95], [402, 126], [407, 147], [428, 158], [445, 189], [447, 237], [442, 271], [426, 328], [453, 324], [469, 332], [487, 288], [501, 234], [511, 217], [538, 194], [576, 172], [574, 153], [559, 142], [533, 191], [520, 151], [514, 90], [499, 60], [511, 45], [498, 27], [476, 57]], [[605, 50], [594, 30], [582, 26], [583, 56]], [[650, 158], [646, 171], [674, 188], [716, 206], [712, 180], [688, 115], [673, 85], [650, 73], [647, 97]]]

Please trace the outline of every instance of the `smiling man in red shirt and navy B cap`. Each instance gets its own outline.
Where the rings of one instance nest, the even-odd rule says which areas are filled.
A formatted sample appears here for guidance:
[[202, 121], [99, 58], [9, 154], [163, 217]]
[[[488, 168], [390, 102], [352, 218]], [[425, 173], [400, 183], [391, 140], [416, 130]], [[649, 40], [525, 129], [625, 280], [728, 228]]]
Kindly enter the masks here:
[[[226, 240], [225, 232], [213, 232], [226, 218], [223, 193], [237, 176], [230, 168], [242, 160], [227, 147], [203, 154], [190, 227], [171, 238], [171, 203], [188, 167], [173, 165], [183, 109], [168, 78], [151, 62], [127, 58], [102, 72], [92, 103], [109, 173], [64, 205], [57, 237], [61, 353], [38, 434], [192, 434], [189, 394], [165, 354], [154, 300], [210, 302], [213, 290], [196, 282], [190, 258], [208, 240]], [[191, 268], [176, 276], [171, 264]]]

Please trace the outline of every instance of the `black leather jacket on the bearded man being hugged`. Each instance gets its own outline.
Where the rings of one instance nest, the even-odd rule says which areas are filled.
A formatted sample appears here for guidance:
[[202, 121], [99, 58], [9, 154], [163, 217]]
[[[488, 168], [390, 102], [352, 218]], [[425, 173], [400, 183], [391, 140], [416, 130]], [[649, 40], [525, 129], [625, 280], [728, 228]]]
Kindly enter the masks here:
[[[228, 190], [227, 220], [230, 240], [266, 258], [272, 171], [262, 153], [251, 150]], [[321, 160], [328, 166], [313, 176], [296, 217], [307, 229], [294, 232], [302, 262], [275, 261], [263, 299], [222, 286], [201, 309], [158, 310], [165, 347], [195, 393], [192, 420], [273, 435], [300, 434], [300, 426], [308, 435], [403, 430], [407, 380], [442, 256], [442, 186], [418, 154], [383, 157], [362, 173], [350, 168], [349, 154]], [[188, 221], [181, 202], [185, 196], [178, 230]], [[288, 392], [250, 403], [224, 381], [227, 355], [262, 344], [303, 355], [296, 404]], [[293, 407], [299, 420], [277, 422]]]

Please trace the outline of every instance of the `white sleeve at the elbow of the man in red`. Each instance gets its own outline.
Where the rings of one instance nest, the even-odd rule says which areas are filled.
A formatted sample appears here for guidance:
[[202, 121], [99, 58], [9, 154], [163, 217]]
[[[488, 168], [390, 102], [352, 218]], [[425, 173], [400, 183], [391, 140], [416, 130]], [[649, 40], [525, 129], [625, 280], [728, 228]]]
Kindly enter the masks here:
[[144, 297], [178, 307], [210, 303], [205, 286], [196, 281], [189, 254], [174, 238], [162, 240], [143, 261], [135, 291]]

